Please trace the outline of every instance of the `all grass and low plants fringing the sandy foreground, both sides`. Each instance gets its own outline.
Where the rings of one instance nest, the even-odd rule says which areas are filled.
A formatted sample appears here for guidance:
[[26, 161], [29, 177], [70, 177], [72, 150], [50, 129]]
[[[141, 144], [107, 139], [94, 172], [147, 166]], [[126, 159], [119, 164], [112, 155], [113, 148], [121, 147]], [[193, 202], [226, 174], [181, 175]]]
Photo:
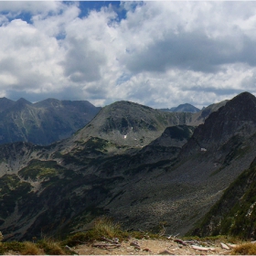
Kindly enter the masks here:
[[[0, 232], [0, 254], [20, 254], [20, 255], [74, 255], [75, 251], [72, 251], [70, 247], [91, 243], [95, 240], [117, 240], [121, 242], [123, 240], [135, 239], [157, 239], [165, 240], [166, 237], [161, 230], [157, 234], [144, 231], [124, 231], [119, 224], [112, 222], [111, 219], [102, 217], [96, 219], [93, 223], [93, 227], [90, 230], [84, 232], [75, 233], [65, 240], [54, 240], [49, 238], [43, 238], [37, 240], [33, 238], [32, 241], [1, 241], [4, 240], [4, 236]], [[215, 237], [185, 237], [184, 240], [197, 240], [202, 243], [211, 242], [230, 242], [236, 243], [238, 246], [229, 254], [233, 255], [256, 255], [256, 243], [243, 242], [242, 240], [230, 236], [215, 236]]]

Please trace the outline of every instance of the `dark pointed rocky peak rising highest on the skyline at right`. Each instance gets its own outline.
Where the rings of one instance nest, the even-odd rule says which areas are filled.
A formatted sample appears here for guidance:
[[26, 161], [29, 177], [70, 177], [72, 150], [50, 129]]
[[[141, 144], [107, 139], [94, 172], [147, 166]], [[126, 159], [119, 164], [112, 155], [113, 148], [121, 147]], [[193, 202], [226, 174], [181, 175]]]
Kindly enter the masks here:
[[256, 98], [249, 92], [240, 93], [218, 112], [212, 112], [204, 124], [195, 130], [185, 147], [217, 150], [233, 136], [246, 138], [256, 132]]

